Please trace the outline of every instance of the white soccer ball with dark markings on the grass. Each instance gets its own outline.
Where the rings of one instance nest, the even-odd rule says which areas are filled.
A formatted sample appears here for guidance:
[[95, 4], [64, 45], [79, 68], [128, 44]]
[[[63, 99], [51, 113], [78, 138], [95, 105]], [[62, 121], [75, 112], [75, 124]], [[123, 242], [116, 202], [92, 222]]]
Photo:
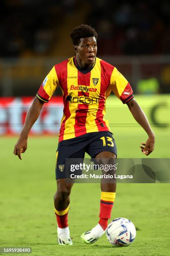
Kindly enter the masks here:
[[130, 220], [117, 218], [108, 225], [106, 236], [113, 246], [129, 246], [135, 240], [136, 229]]

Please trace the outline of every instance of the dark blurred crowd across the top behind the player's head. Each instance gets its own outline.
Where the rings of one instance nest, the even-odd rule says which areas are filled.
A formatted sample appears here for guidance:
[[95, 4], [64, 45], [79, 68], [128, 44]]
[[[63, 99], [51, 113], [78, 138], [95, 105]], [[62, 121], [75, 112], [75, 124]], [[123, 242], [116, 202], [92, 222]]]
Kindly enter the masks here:
[[[80, 0], [1, 0], [0, 56], [45, 54]], [[82, 23], [95, 27], [100, 55], [170, 54], [170, 1], [86, 0]], [[74, 17], [75, 19], [76, 17]]]

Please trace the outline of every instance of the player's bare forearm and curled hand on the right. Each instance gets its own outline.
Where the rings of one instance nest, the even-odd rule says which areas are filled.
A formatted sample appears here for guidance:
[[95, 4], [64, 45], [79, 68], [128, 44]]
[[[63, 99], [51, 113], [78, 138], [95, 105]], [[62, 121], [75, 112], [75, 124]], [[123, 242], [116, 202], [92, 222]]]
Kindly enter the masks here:
[[148, 134], [148, 140], [146, 141], [146, 143], [141, 143], [143, 146], [140, 146], [143, 154], [148, 156], [154, 150], [155, 135], [153, 133], [153, 130], [150, 127], [150, 124], [145, 113], [140, 108], [138, 102], [136, 102], [134, 98], [128, 101], [126, 104], [128, 105], [128, 108], [132, 113], [133, 117], [135, 118], [135, 120], [140, 124], [140, 126], [143, 127], [145, 132]]

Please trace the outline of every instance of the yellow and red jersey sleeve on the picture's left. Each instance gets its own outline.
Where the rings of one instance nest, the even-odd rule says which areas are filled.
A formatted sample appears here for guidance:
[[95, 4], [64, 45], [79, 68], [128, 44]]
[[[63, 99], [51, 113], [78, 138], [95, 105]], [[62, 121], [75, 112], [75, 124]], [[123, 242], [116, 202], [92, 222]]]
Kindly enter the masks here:
[[44, 81], [42, 82], [40, 89], [37, 92], [37, 98], [40, 102], [48, 102], [52, 97], [55, 89], [60, 86], [57, 73], [55, 71], [55, 67], [53, 67], [50, 72], [45, 77]]

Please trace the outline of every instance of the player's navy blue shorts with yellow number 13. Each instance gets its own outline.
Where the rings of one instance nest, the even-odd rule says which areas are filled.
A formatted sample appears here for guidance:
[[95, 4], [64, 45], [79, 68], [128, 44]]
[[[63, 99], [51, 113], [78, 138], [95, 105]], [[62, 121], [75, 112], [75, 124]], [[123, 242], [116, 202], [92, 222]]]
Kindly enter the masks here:
[[95, 158], [97, 154], [103, 151], [110, 151], [117, 156], [116, 143], [109, 131], [86, 133], [76, 138], [61, 141], [58, 143], [56, 152], [56, 179], [66, 177], [65, 160], [67, 158], [84, 159], [85, 152], [91, 158]]

